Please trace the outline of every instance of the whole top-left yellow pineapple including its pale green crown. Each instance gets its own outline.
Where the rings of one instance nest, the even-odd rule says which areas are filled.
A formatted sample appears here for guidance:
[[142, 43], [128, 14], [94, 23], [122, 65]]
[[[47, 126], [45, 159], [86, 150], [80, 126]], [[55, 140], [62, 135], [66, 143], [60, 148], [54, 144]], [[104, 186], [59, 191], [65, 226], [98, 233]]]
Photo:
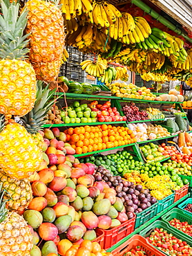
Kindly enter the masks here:
[[35, 70], [25, 60], [27, 15], [24, 9], [19, 16], [19, 3], [1, 1], [0, 113], [5, 115], [24, 116], [35, 103]]

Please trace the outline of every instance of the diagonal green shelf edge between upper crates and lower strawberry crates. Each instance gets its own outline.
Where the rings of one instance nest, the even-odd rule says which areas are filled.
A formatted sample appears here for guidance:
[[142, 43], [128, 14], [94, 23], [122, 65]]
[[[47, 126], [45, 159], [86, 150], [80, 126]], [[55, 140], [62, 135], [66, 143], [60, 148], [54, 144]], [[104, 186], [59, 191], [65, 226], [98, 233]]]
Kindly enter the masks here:
[[127, 237], [124, 237], [124, 239], [120, 240], [117, 244], [115, 244], [115, 246], [109, 248], [107, 251], [111, 252], [112, 250], [114, 250], [115, 248], [117, 248], [118, 246], [120, 246], [121, 244], [123, 244], [125, 241], [127, 241], [130, 237], [133, 237], [133, 235], [140, 233], [140, 231], [144, 230], [144, 228], [146, 228], [148, 225], [150, 225], [151, 223], [153, 223], [154, 221], [156, 221], [157, 219], [160, 219], [160, 217], [162, 217], [162, 215], [164, 215], [166, 212], [169, 212], [169, 210], [171, 210], [172, 208], [174, 208], [175, 206], [177, 206], [179, 203], [181, 203], [182, 201], [184, 201], [185, 199], [187, 199], [188, 197], [190, 197], [190, 193], [186, 194], [186, 196], [183, 196], [181, 199], [179, 199], [178, 201], [176, 201], [175, 203], [173, 203], [172, 205], [170, 205], [168, 208], [166, 208], [165, 210], [163, 210], [162, 212], [160, 212], [159, 214], [157, 214], [155, 217], [153, 217], [152, 219], [150, 219], [149, 221], [147, 221], [146, 223], [144, 223], [142, 226], [140, 226], [139, 228], [136, 228], [130, 235], [128, 235]]

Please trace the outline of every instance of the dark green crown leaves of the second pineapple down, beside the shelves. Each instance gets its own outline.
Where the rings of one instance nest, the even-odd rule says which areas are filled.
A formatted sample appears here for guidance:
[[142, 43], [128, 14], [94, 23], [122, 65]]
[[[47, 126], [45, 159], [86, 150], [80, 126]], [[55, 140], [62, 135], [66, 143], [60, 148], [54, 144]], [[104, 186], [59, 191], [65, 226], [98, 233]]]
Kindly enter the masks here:
[[[30, 134], [35, 134], [37, 131], [43, 129], [45, 124], [45, 116], [55, 103], [54, 99], [56, 89], [50, 91], [48, 85], [43, 88], [43, 82], [37, 82], [37, 95], [34, 108], [21, 118], [23, 125]], [[52, 99], [53, 98], [53, 99]]]

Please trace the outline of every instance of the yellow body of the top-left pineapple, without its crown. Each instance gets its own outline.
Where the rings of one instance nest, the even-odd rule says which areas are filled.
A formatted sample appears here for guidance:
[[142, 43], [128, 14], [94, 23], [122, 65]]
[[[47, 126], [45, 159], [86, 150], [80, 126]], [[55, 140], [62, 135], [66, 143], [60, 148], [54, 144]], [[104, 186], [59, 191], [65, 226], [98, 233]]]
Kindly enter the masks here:
[[36, 100], [36, 77], [23, 60], [0, 61], [0, 113], [25, 116]]

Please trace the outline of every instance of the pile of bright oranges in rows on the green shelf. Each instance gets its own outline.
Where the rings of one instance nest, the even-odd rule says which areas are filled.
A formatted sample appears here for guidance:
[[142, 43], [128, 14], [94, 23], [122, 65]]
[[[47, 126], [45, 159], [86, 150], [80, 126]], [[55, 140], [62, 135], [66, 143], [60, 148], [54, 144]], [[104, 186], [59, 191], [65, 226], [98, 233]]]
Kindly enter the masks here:
[[137, 142], [131, 129], [112, 125], [70, 127], [64, 133], [76, 154], [110, 149]]

